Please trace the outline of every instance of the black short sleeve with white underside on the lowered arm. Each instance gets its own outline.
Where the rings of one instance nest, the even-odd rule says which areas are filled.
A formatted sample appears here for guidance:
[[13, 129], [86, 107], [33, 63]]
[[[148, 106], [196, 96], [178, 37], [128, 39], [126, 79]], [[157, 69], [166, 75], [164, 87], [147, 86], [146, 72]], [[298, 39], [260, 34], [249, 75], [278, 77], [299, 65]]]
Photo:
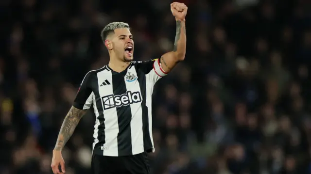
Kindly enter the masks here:
[[93, 104], [93, 95], [94, 93], [90, 88], [90, 73], [87, 73], [82, 80], [76, 98], [74, 99], [73, 106], [79, 110], [89, 109]]

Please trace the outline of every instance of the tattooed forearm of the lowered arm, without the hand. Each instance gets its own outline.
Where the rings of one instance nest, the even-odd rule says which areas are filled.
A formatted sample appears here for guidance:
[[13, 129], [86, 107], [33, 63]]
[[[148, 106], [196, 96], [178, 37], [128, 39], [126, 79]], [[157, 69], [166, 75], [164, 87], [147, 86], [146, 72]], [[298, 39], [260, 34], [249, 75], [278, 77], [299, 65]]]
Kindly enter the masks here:
[[77, 108], [71, 107], [65, 120], [60, 128], [58, 139], [54, 150], [61, 150], [69, 138], [73, 134], [74, 129], [79, 124], [80, 119], [86, 113], [86, 111], [79, 110]]

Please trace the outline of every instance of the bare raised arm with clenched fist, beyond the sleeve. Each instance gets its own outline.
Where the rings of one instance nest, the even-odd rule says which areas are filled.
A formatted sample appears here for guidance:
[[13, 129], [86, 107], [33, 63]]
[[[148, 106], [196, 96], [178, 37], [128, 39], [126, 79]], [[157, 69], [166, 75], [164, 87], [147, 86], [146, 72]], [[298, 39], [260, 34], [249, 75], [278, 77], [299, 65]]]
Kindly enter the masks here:
[[188, 7], [184, 3], [173, 2], [171, 11], [176, 19], [176, 35], [173, 51], [161, 56], [161, 68], [165, 73], [169, 73], [173, 67], [185, 59], [186, 55], [186, 20]]

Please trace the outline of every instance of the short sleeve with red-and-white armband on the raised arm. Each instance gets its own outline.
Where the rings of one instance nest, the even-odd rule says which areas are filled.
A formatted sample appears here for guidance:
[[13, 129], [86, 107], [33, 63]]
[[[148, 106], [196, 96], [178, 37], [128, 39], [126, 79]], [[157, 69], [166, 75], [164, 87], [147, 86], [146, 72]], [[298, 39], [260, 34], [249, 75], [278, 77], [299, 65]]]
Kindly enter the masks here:
[[149, 80], [153, 84], [168, 74], [162, 69], [160, 59], [141, 62], [139, 63], [139, 67], [145, 72], [146, 80]]

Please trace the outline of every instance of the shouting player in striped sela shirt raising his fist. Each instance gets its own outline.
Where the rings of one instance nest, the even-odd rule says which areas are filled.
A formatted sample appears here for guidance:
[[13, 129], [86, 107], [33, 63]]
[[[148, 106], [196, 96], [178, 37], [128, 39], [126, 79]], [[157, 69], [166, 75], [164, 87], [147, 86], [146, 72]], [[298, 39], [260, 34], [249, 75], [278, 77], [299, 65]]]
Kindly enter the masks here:
[[81, 83], [53, 150], [54, 174], [65, 173], [61, 151], [91, 106], [96, 115], [92, 174], [150, 173], [147, 152], [155, 151], [151, 95], [155, 82], [185, 58], [187, 10], [183, 3], [171, 4], [177, 26], [174, 48], [152, 61], [133, 61], [134, 42], [128, 24], [113, 22], [104, 28], [102, 39], [110, 61], [88, 72]]

